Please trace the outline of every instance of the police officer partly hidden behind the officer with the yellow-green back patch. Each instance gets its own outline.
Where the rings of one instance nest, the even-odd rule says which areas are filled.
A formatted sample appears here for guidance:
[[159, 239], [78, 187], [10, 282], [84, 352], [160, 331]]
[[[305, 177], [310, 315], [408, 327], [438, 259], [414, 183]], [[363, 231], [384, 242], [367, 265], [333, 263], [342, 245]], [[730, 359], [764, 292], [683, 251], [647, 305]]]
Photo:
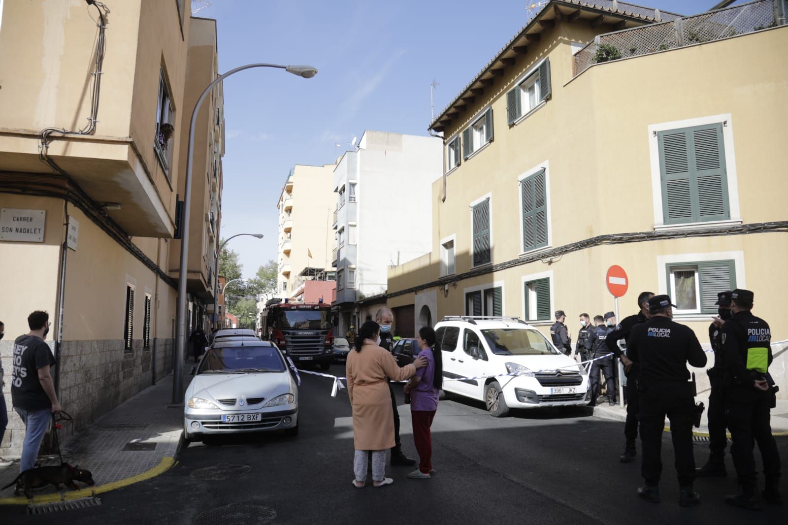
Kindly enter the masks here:
[[719, 292], [717, 302], [719, 317], [715, 318], [708, 326], [708, 340], [714, 351], [714, 366], [706, 370], [708, 381], [712, 386], [708, 394], [708, 461], [703, 467], [697, 469], [701, 477], [725, 477], [725, 393], [723, 391], [723, 356], [720, 343], [722, 339], [723, 324], [730, 319], [730, 293]]

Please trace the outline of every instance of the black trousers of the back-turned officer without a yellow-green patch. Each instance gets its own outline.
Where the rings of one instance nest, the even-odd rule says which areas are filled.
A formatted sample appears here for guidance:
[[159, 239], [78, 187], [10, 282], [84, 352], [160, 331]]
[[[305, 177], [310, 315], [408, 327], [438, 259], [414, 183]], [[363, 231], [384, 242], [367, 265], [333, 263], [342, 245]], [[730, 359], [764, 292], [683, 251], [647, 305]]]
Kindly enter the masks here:
[[671, 438], [678, 484], [695, 479], [692, 424], [695, 401], [686, 382], [650, 384], [640, 397], [640, 430], [643, 442], [641, 475], [646, 485], [656, 486], [662, 474], [662, 433], [665, 415], [671, 421]]

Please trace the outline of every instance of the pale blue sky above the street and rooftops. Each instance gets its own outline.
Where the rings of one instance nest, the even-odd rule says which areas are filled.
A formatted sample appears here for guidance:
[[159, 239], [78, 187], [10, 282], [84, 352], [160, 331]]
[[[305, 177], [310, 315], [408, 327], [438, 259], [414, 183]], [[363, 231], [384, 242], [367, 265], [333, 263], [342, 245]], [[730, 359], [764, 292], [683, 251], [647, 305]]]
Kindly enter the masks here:
[[[251, 62], [319, 69], [311, 80], [278, 69], [225, 80], [221, 234], [266, 236], [228, 244], [245, 277], [277, 258], [276, 204], [293, 165], [331, 163], [365, 129], [426, 135], [429, 84], [439, 83], [440, 111], [522, 28], [530, 3], [494, 0], [486, 4], [494, 9], [479, 9], [478, 0], [209, 2], [195, 16], [217, 19], [222, 72]], [[634, 3], [693, 14], [716, 2]], [[473, 35], [473, 43], [454, 35]]]

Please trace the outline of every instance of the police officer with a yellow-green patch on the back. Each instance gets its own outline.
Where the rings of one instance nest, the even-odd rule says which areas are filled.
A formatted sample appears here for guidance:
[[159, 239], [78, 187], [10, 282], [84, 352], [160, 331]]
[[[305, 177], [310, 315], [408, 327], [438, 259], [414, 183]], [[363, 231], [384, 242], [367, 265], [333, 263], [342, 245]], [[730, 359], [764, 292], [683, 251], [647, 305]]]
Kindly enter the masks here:
[[753, 292], [730, 292], [730, 316], [720, 337], [725, 375], [725, 412], [732, 443], [739, 493], [725, 501], [738, 507], [760, 508], [756, 493], [757, 475], [753, 448], [756, 441], [764, 463], [764, 500], [782, 504], [779, 493], [780, 456], [769, 425], [769, 409], [776, 403], [774, 382], [768, 375], [771, 364], [771, 330], [752, 313]]

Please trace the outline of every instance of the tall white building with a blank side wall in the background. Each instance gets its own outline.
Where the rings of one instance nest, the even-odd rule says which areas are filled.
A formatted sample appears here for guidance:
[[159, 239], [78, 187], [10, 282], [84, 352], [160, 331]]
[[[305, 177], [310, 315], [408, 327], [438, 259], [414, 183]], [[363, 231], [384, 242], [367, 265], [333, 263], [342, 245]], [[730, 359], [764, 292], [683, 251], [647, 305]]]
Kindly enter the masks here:
[[386, 292], [388, 266], [431, 249], [430, 184], [440, 176], [440, 155], [433, 137], [366, 131], [359, 147], [340, 158], [333, 217], [337, 333], [366, 320], [357, 303]]

